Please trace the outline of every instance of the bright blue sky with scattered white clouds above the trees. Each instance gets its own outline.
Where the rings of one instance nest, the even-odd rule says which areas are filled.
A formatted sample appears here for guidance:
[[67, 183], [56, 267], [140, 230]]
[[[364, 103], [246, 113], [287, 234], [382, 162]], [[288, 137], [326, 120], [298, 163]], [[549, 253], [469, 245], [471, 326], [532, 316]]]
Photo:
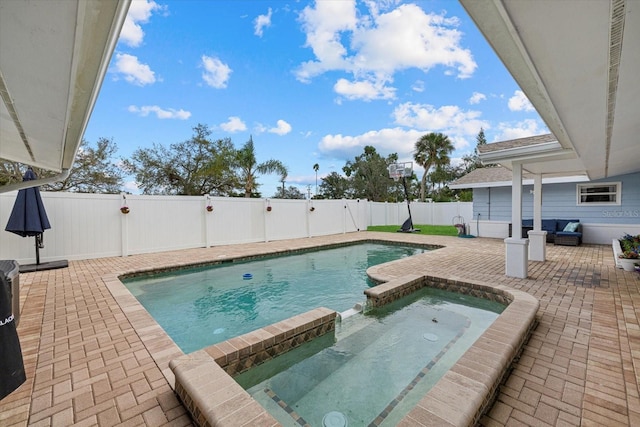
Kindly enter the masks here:
[[[305, 194], [315, 163], [342, 173], [366, 145], [411, 161], [442, 132], [457, 161], [480, 127], [489, 142], [548, 132], [457, 1], [133, 0], [85, 139], [128, 158], [198, 123], [236, 147], [251, 135]], [[263, 197], [281, 185], [258, 181]]]

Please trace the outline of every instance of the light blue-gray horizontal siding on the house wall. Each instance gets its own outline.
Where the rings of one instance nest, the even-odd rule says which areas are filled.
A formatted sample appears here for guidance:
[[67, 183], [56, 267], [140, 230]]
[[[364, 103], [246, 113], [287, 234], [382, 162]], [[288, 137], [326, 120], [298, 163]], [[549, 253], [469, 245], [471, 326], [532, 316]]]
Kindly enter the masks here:
[[[640, 224], [640, 173], [592, 181], [621, 182], [621, 205], [578, 206], [576, 183], [542, 186], [542, 218], [577, 218], [592, 224]], [[522, 218], [533, 218], [533, 185], [525, 185], [522, 195]], [[473, 190], [473, 219], [511, 221], [511, 187]]]

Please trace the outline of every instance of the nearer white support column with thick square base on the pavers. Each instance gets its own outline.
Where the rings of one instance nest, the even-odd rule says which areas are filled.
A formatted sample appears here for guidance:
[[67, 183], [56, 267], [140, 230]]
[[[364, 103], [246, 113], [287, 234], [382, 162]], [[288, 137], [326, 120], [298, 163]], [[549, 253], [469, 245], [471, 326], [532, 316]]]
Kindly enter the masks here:
[[511, 236], [505, 242], [505, 274], [526, 278], [528, 273], [529, 239], [522, 238], [522, 163], [513, 163], [511, 183]]

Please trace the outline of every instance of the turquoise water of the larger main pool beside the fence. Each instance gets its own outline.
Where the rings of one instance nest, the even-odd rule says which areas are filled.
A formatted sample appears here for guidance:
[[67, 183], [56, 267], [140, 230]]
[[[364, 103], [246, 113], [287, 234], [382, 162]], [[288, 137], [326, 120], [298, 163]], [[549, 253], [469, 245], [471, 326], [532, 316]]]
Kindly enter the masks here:
[[[363, 243], [124, 280], [185, 353], [316, 307], [342, 312], [374, 286], [366, 270], [428, 249]], [[249, 278], [250, 277], [250, 278]]]

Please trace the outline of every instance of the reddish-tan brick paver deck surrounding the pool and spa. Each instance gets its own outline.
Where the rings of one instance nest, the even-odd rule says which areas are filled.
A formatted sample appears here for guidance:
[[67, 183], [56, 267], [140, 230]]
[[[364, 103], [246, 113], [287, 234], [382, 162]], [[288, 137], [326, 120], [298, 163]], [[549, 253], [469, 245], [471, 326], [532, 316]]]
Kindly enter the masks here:
[[360, 232], [72, 261], [20, 275], [18, 332], [27, 382], [0, 401], [0, 426], [190, 425], [172, 390], [175, 344], [123, 291], [125, 272], [382, 238], [445, 246], [375, 267], [485, 280], [540, 300], [538, 327], [501, 387], [486, 426], [640, 425], [640, 275], [609, 246], [547, 245], [527, 279], [504, 275], [499, 239]]

